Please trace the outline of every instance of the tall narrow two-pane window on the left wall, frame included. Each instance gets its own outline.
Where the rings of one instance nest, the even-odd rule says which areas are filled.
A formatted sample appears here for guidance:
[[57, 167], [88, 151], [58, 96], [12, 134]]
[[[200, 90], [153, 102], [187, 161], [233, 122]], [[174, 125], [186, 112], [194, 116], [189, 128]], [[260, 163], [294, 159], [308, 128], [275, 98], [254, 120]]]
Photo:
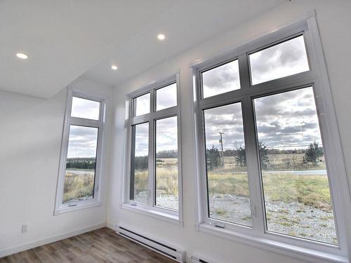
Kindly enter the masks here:
[[98, 203], [104, 102], [69, 90], [55, 213]]

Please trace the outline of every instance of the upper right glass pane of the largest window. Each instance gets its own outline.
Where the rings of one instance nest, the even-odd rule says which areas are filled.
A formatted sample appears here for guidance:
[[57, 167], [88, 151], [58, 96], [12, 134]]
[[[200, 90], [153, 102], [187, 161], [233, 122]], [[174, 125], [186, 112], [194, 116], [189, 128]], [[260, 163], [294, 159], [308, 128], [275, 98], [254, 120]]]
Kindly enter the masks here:
[[310, 70], [303, 36], [249, 55], [253, 85]]

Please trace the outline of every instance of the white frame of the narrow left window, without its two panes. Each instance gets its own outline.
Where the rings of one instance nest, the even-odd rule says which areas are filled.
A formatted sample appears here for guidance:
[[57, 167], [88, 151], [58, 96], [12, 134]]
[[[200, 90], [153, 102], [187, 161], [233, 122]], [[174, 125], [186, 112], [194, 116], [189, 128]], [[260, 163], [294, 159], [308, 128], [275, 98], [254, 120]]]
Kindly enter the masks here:
[[[72, 111], [73, 97], [80, 97], [86, 100], [93, 100], [96, 102], [100, 102], [99, 120], [72, 117], [71, 111]], [[81, 90], [76, 90], [70, 86], [67, 88], [67, 104], [65, 109], [65, 121], [64, 121], [64, 125], [63, 125], [64, 127], [62, 132], [60, 166], [58, 171], [58, 187], [56, 191], [54, 215], [101, 205], [100, 184], [101, 184], [101, 177], [102, 177], [102, 152], [103, 152], [102, 144], [103, 144], [103, 138], [104, 138], [105, 112], [106, 112], [105, 99], [106, 97], [103, 97], [101, 95], [88, 93]], [[67, 163], [67, 150], [68, 150], [68, 142], [69, 142], [69, 128], [71, 125], [98, 128], [98, 142], [97, 142], [97, 148], [96, 148], [96, 164], [95, 164], [95, 183], [94, 183], [94, 189], [93, 189], [94, 194], [93, 194], [93, 198], [88, 200], [62, 203], [63, 189], [64, 189], [64, 183], [65, 183], [66, 163]]]

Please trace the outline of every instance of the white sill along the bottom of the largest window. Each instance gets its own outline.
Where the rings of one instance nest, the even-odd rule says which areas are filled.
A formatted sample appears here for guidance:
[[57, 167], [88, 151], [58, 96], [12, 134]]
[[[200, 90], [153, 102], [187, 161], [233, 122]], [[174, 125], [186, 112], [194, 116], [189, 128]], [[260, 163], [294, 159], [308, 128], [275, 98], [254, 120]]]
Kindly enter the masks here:
[[241, 234], [227, 229], [219, 229], [213, 227], [211, 224], [201, 223], [197, 227], [199, 231], [206, 234], [213, 234], [215, 236], [220, 236], [232, 241], [237, 241], [246, 245], [252, 245], [257, 248], [276, 252], [282, 255], [287, 255], [289, 257], [307, 260], [310, 262], [349, 262], [347, 256], [345, 255], [322, 252], [310, 248], [303, 248], [298, 245], [290, 245], [279, 241], [273, 241], [270, 238]]

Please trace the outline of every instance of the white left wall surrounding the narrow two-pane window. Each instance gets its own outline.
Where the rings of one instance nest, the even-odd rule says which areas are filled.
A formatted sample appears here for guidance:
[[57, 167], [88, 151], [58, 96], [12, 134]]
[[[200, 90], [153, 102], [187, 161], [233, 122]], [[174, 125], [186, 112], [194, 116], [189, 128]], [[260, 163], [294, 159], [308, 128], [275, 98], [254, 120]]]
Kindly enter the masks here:
[[[112, 88], [86, 79], [77, 79], [72, 86], [109, 97], [106, 130], [110, 133]], [[43, 239], [53, 241], [106, 223], [108, 169], [102, 175], [102, 206], [53, 215], [66, 100], [67, 88], [49, 100], [0, 93], [0, 257]], [[108, 161], [108, 140], [105, 145]], [[25, 234], [22, 224], [28, 224]]]

